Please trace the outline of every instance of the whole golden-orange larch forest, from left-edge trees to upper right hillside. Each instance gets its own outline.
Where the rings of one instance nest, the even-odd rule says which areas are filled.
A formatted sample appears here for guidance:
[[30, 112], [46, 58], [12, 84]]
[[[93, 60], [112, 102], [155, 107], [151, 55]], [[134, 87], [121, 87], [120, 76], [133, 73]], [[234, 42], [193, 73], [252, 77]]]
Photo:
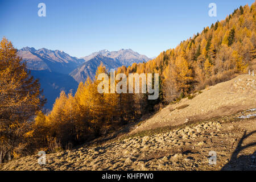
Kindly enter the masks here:
[[148, 100], [148, 93], [98, 93], [98, 75], [110, 74], [100, 65], [94, 80], [80, 82], [76, 93], [61, 92], [49, 113], [42, 112], [45, 100], [38, 80], [30, 76], [16, 49], [4, 38], [0, 47], [0, 162], [42, 150], [72, 148], [143, 119], [195, 90], [245, 73], [256, 58], [255, 26], [255, 3], [241, 6], [155, 59], [117, 69], [116, 73], [126, 75], [159, 73], [157, 100]]

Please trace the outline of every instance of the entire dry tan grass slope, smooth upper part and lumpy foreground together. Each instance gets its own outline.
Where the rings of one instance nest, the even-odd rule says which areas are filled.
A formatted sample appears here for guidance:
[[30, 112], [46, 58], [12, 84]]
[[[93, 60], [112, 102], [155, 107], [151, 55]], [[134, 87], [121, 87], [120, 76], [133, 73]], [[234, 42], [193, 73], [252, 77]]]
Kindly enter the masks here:
[[[246, 111], [190, 121], [159, 134], [47, 154], [41, 166], [38, 155], [26, 156], [1, 164], [0, 170], [256, 170], [255, 99], [255, 77], [241, 75], [166, 107], [134, 131]], [[185, 104], [189, 106], [170, 111]], [[254, 117], [238, 118], [249, 114]], [[216, 165], [209, 165], [209, 151], [216, 152]]]

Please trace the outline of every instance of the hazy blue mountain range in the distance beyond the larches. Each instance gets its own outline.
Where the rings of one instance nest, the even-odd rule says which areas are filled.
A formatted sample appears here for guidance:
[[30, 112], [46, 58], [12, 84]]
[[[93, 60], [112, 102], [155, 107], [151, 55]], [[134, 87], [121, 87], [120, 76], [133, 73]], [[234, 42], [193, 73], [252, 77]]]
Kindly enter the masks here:
[[78, 84], [88, 77], [94, 78], [97, 67], [103, 63], [110, 71], [133, 63], [143, 63], [150, 58], [140, 55], [132, 49], [119, 51], [102, 50], [84, 57], [73, 57], [63, 51], [33, 47], [18, 50], [18, 55], [26, 61], [31, 75], [39, 78], [44, 96], [47, 98], [46, 108], [51, 109], [61, 90], [76, 92]]

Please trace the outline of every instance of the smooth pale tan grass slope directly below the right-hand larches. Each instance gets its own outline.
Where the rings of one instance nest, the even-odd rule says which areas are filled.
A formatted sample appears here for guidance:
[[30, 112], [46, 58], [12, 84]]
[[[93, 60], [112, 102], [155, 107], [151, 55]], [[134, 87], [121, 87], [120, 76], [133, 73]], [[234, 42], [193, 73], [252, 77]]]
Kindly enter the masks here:
[[[256, 73], [255, 73], [256, 74]], [[130, 132], [151, 130], [157, 127], [180, 125], [256, 107], [256, 76], [240, 75], [230, 81], [201, 90], [192, 100], [184, 98], [178, 104], [169, 105]], [[177, 107], [189, 105], [183, 109]]]

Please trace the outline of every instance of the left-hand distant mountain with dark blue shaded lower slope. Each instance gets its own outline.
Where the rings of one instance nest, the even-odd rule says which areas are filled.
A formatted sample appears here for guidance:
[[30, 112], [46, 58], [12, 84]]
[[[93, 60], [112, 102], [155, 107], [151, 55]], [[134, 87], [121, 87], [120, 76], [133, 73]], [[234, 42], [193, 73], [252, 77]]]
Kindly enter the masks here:
[[76, 92], [77, 82], [68, 74], [77, 68], [83, 59], [69, 56], [59, 50], [24, 47], [18, 50], [18, 55], [27, 63], [31, 75], [39, 78], [43, 94], [47, 98], [46, 109], [52, 109], [55, 99], [59, 97], [61, 90]]

